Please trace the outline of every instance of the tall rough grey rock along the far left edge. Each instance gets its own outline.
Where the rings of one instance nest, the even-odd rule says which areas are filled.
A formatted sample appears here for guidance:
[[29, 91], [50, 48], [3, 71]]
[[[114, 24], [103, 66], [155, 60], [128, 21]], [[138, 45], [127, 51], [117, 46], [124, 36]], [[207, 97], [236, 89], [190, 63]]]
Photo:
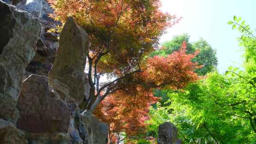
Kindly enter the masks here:
[[37, 51], [37, 18], [0, 0], [0, 118], [16, 121], [23, 74]]

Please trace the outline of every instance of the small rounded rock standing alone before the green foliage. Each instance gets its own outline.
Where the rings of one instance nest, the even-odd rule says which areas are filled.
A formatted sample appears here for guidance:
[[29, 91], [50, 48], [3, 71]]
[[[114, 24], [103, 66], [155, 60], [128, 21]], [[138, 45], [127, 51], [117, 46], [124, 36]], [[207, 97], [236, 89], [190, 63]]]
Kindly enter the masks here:
[[174, 124], [165, 122], [158, 127], [158, 144], [182, 144], [178, 138], [178, 129]]

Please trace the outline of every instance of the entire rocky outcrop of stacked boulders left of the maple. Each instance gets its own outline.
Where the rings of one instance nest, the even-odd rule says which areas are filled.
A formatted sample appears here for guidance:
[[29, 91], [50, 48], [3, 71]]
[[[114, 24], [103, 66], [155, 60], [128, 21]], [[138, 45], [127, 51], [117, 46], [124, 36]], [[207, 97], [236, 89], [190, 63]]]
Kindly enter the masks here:
[[107, 144], [108, 126], [79, 115], [90, 93], [86, 32], [68, 19], [58, 48], [45, 0], [5, 1], [39, 20], [0, 0], [0, 144]]

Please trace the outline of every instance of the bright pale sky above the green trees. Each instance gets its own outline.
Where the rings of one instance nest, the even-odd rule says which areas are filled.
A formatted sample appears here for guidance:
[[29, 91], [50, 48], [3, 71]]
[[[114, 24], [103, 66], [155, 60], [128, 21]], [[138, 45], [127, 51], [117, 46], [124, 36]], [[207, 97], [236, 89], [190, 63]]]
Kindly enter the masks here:
[[183, 33], [190, 35], [192, 42], [202, 37], [217, 50], [219, 72], [225, 72], [230, 65], [241, 67], [242, 49], [237, 42], [240, 35], [227, 22], [236, 15], [256, 29], [256, 0], [161, 1], [163, 11], [183, 17], [180, 23], [168, 29], [167, 34], [161, 37], [161, 42]]

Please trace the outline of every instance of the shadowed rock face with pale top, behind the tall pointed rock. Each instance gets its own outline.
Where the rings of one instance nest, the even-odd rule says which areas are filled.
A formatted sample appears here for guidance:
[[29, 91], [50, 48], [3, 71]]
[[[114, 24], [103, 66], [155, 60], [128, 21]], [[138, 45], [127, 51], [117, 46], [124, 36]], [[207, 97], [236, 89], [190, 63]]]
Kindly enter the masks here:
[[38, 18], [42, 25], [41, 35], [37, 41], [36, 55], [31, 63], [29, 63], [27, 66], [26, 71], [47, 76], [48, 72], [53, 66], [57, 49], [59, 47], [59, 42], [57, 39], [59, 34], [52, 32], [48, 33], [47, 31], [53, 27], [56, 27], [56, 25], [61, 25], [61, 23], [48, 17], [48, 15], [53, 12], [53, 9], [50, 8], [47, 0], [32, 0], [31, 2], [27, 2], [25, 4], [20, 2], [16, 4], [16, 6], [20, 9], [26, 10], [34, 17]]

